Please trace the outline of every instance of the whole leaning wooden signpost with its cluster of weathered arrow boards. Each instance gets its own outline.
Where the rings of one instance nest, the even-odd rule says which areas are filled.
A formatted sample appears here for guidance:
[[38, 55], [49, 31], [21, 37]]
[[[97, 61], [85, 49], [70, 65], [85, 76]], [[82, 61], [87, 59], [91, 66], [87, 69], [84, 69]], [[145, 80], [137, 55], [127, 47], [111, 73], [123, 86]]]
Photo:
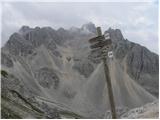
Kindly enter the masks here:
[[[111, 84], [111, 79], [110, 79], [110, 73], [109, 73], [109, 68], [107, 65], [107, 55], [108, 51], [107, 48], [111, 46], [112, 41], [108, 37], [108, 35], [102, 35], [101, 28], [97, 27], [97, 33], [98, 36], [94, 37], [89, 40], [89, 43], [91, 43], [90, 48], [93, 49], [92, 52], [95, 52], [97, 49], [101, 50], [101, 54], [99, 57], [102, 58], [103, 64], [104, 64], [104, 72], [105, 72], [105, 77], [106, 77], [106, 82], [107, 82], [107, 88], [108, 88], [108, 97], [109, 97], [109, 102], [110, 102], [110, 109], [112, 113], [112, 118], [116, 119], [116, 109], [115, 109], [115, 104], [114, 104], [114, 96], [113, 96], [113, 91], [112, 91], [112, 84]], [[107, 39], [105, 39], [107, 38]], [[105, 49], [105, 51], [104, 51]], [[111, 53], [110, 53], [111, 54]]]

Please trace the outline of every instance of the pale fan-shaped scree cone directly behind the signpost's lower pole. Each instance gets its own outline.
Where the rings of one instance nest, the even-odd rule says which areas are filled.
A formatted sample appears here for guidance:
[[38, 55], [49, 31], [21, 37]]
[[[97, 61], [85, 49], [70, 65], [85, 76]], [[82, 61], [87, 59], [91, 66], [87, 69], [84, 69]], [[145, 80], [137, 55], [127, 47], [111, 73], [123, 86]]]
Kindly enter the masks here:
[[[132, 109], [157, 99], [127, 75], [125, 68], [115, 59], [110, 60], [109, 65], [117, 109]], [[103, 65], [100, 63], [75, 100], [86, 116], [103, 118], [105, 111], [110, 109], [107, 93]]]

